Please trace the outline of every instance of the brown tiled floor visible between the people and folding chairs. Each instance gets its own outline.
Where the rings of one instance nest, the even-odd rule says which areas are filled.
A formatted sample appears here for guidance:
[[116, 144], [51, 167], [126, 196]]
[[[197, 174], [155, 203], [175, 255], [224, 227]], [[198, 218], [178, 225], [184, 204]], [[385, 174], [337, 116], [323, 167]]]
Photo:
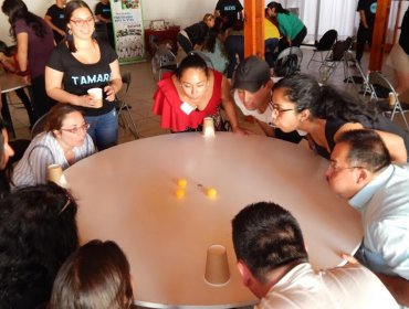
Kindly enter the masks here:
[[[303, 49], [303, 52], [304, 57], [302, 62], [302, 72], [306, 72], [316, 77], [319, 77], [318, 63], [312, 63], [310, 70], [306, 70], [306, 64], [308, 63], [310, 57], [312, 55], [312, 50]], [[367, 67], [367, 62], [368, 54], [365, 54], [363, 58], [364, 68]], [[151, 113], [153, 96], [156, 88], [156, 82], [151, 73], [150, 61], [123, 65], [120, 66], [120, 71], [122, 72], [129, 71], [133, 76], [127, 102], [132, 106], [130, 113], [134, 117], [140, 137], [147, 138], [151, 136], [168, 134], [169, 132], [168, 130], [160, 128], [159, 117], [153, 115]], [[385, 66], [384, 72], [388, 75], [388, 77], [392, 77], [391, 72], [390, 70], [388, 70], [388, 67]], [[343, 66], [339, 65], [337, 71], [328, 81], [328, 83], [334, 84], [340, 88], [347, 88], [349, 90], [356, 92], [356, 88], [354, 88], [352, 84], [345, 84], [343, 81], [344, 81]], [[14, 95], [11, 96], [11, 100], [12, 103], [10, 106], [10, 111], [12, 114], [17, 137], [30, 138], [30, 130], [28, 126], [28, 117], [25, 109], [23, 108], [22, 104], [18, 103], [18, 98]], [[397, 118], [398, 118], [397, 122], [401, 122], [399, 121], [400, 117]], [[244, 121], [242, 117], [240, 117], [240, 121], [244, 127], [250, 128], [255, 132], [262, 134], [260, 128], [255, 124]], [[119, 142], [126, 142], [133, 139], [134, 136], [129, 130], [120, 128]]]

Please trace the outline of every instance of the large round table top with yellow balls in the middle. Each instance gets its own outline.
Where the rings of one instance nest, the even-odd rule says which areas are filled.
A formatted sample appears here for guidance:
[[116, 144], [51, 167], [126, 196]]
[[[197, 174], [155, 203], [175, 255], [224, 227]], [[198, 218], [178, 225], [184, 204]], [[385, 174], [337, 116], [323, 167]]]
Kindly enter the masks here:
[[[126, 253], [140, 306], [232, 308], [255, 302], [242, 286], [231, 220], [245, 205], [273, 201], [291, 210], [314, 268], [343, 263], [363, 232], [359, 214], [327, 187], [327, 161], [304, 146], [263, 136], [178, 134], [119, 145], [65, 171], [78, 202], [81, 243], [114, 239]], [[177, 199], [177, 180], [186, 196]], [[207, 188], [218, 191], [216, 199]], [[204, 281], [207, 248], [227, 247], [230, 280]]]

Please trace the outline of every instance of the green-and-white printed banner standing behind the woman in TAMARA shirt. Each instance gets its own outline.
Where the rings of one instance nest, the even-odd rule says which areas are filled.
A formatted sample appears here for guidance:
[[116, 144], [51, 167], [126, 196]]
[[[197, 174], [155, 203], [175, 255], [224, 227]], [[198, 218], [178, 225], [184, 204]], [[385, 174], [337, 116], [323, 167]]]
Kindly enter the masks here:
[[145, 61], [141, 0], [111, 0], [119, 64]]

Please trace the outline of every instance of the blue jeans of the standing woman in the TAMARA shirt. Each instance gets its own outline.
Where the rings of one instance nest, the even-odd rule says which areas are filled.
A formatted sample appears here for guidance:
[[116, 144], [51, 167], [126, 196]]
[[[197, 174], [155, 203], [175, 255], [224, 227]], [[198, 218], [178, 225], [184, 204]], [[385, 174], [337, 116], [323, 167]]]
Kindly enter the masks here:
[[117, 145], [118, 120], [115, 108], [104, 115], [85, 116], [85, 120], [90, 124], [87, 134], [99, 151]]

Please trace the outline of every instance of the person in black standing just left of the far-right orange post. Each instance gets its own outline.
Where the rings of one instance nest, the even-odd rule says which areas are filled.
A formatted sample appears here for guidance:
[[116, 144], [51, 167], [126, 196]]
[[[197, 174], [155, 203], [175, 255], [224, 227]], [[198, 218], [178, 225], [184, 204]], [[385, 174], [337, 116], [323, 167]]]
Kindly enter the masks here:
[[376, 14], [377, 0], [359, 0], [357, 12], [359, 12], [359, 28], [356, 34], [356, 60], [360, 63], [363, 58], [365, 44], [369, 46], [373, 41], [374, 22]]

